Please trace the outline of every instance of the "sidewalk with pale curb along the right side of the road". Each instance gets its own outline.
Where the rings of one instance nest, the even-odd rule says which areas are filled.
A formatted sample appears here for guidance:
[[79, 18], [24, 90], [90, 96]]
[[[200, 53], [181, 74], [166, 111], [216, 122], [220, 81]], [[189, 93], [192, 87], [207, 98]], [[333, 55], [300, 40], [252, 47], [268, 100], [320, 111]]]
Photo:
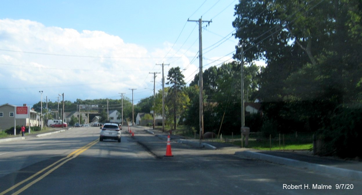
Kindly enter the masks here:
[[[156, 136], [167, 137], [167, 133], [159, 130], [145, 130], [152, 132]], [[218, 143], [211, 141], [202, 141], [194, 139], [184, 139], [182, 136], [172, 135], [172, 141], [178, 143], [193, 145], [194, 147], [202, 147], [208, 149], [225, 149], [237, 147], [231, 144]], [[240, 148], [240, 147], [239, 147]], [[319, 157], [308, 151], [258, 151], [248, 149], [243, 152], [235, 152], [235, 156], [240, 158], [252, 158], [264, 160], [275, 164], [282, 164], [301, 169], [309, 169], [320, 173], [336, 175], [338, 177], [348, 177], [352, 179], [362, 180], [362, 162], [358, 160], [341, 160], [333, 157]]]

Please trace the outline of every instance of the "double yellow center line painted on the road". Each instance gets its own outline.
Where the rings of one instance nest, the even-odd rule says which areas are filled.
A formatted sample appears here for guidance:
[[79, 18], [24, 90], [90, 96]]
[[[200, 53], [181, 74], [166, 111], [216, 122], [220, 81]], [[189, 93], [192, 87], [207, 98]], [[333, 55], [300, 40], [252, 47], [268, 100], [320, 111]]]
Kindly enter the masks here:
[[26, 190], [27, 188], [29, 188], [30, 186], [32, 186], [34, 183], [37, 183], [38, 181], [40, 181], [41, 179], [45, 178], [47, 175], [49, 175], [51, 172], [53, 172], [54, 170], [58, 169], [60, 166], [64, 165], [66, 162], [72, 160], [73, 158], [77, 157], [79, 154], [83, 153], [84, 151], [86, 151], [88, 148], [92, 147], [94, 144], [96, 144], [98, 142], [99, 139], [92, 141], [91, 143], [77, 149], [76, 151], [68, 154], [67, 157], [64, 157], [56, 162], [54, 162], [53, 164], [47, 166], [46, 168], [38, 171], [37, 173], [35, 173], [34, 175], [31, 175], [30, 177], [28, 177], [27, 179], [24, 179], [23, 181], [15, 184], [14, 186], [10, 187], [9, 189], [3, 191], [0, 193], [0, 195], [4, 195], [6, 193], [8, 193], [11, 190], [14, 190], [15, 188], [17, 188], [18, 186], [22, 185], [25, 182], [28, 182], [29, 180], [33, 179], [34, 177], [37, 177], [38, 175], [42, 174], [43, 172], [45, 172], [46, 170], [48, 170], [46, 173], [44, 173], [43, 175], [41, 175], [40, 177], [38, 177], [37, 179], [34, 179], [33, 181], [31, 181], [30, 183], [28, 183], [27, 185], [25, 185], [24, 187], [20, 188], [18, 191], [14, 192], [12, 195], [18, 195], [20, 194], [22, 191]]

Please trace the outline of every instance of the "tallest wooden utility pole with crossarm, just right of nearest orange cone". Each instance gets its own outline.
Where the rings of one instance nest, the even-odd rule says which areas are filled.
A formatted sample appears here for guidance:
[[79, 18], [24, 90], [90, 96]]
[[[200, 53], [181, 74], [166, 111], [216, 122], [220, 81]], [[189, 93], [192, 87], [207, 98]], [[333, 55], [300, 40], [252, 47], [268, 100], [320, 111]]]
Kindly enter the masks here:
[[200, 126], [200, 140], [203, 139], [203, 97], [202, 97], [202, 91], [203, 91], [203, 81], [202, 81], [202, 22], [212, 22], [212, 20], [210, 21], [202, 21], [202, 18], [200, 18], [199, 20], [189, 20], [187, 19], [187, 21], [190, 22], [198, 22], [199, 23], [199, 89], [200, 89], [200, 93], [199, 93], [199, 118], [200, 118], [200, 122], [199, 122], [199, 126]]

